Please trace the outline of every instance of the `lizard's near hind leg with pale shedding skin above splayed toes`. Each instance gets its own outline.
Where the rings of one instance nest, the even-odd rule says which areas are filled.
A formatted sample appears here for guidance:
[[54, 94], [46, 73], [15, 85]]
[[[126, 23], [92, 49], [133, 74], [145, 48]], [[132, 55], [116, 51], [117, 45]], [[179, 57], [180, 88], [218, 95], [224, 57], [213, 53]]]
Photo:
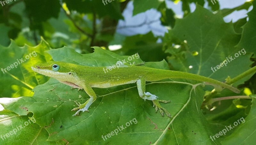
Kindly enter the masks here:
[[[161, 113], [162, 116], [164, 116], [164, 112], [167, 116], [171, 117], [171, 114], [164, 108], [160, 105], [159, 102], [163, 102], [163, 103], [169, 103], [170, 101], [166, 101], [166, 100], [158, 100], [157, 96], [156, 95], [153, 95], [149, 92], [145, 93], [145, 90], [146, 90], [146, 80], [145, 78], [140, 78], [137, 80], [137, 88], [138, 88], [138, 92], [139, 92], [139, 95], [140, 95], [140, 98], [144, 99], [144, 100], [152, 100], [153, 102], [153, 107], [156, 106], [156, 112], [157, 110], [159, 109], [159, 112]], [[163, 112], [163, 110], [164, 112]]]

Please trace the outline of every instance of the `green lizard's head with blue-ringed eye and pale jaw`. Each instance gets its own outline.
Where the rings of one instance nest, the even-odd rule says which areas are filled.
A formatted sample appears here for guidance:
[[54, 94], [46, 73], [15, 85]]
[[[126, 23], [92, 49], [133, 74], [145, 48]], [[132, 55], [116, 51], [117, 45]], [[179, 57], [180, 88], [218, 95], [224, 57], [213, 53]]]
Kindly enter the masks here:
[[50, 61], [48, 63], [31, 66], [31, 69], [34, 72], [59, 80], [67, 80], [75, 76], [76, 73], [72, 70], [72, 68], [75, 69], [74, 64], [62, 61]]

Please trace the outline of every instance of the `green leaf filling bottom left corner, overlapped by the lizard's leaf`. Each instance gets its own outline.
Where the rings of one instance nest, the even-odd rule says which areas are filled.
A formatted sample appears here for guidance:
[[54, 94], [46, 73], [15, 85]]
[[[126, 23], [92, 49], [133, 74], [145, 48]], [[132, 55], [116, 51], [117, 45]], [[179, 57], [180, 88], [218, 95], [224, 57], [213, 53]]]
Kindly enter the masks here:
[[[25, 108], [24, 108], [25, 109]], [[31, 118], [31, 117], [30, 117]], [[60, 145], [61, 142], [46, 141], [49, 134], [36, 120], [19, 116], [11, 111], [0, 111], [0, 144]]]

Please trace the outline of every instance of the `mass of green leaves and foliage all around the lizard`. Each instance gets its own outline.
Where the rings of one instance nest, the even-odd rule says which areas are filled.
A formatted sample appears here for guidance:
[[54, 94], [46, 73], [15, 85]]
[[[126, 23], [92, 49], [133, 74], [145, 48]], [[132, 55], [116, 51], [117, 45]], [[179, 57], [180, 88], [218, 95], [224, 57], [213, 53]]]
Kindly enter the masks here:
[[[207, 9], [203, 7], [204, 0], [181, 0], [184, 16], [177, 18], [162, 0], [133, 0], [133, 16], [151, 8], [161, 12], [161, 24], [168, 28], [164, 37], [154, 36], [152, 32], [135, 36], [116, 32], [129, 1], [104, 5], [100, 0], [16, 0], [0, 5], [0, 67], [6, 68], [36, 52], [17, 68], [0, 73], [0, 104], [4, 108], [0, 109], [0, 135], [5, 135], [5, 139], [0, 138], [0, 144], [236, 145], [256, 141], [256, 1], [220, 10], [219, 3], [212, 5], [210, 0]], [[193, 13], [190, 3], [196, 3]], [[235, 23], [223, 21], [228, 14], [248, 10], [252, 5], [248, 21], [246, 18]], [[157, 43], [159, 39], [162, 41]], [[109, 45], [120, 44], [121, 49], [109, 51]], [[245, 54], [212, 72], [211, 67], [226, 57], [234, 57], [242, 49]], [[171, 100], [163, 104], [172, 115], [168, 118], [155, 113], [151, 101], [139, 97], [136, 84], [93, 88], [97, 100], [90, 112], [73, 117], [74, 112], [70, 110], [75, 107], [74, 101], [84, 103], [89, 96], [30, 68], [51, 60], [112, 66], [135, 53], [140, 55], [135, 62], [146, 61], [148, 67], [190, 72], [223, 82], [226, 79], [227, 83], [242, 74], [231, 83], [241, 93], [227, 89], [217, 92], [212, 86], [204, 87], [199, 81], [186, 79], [148, 82], [147, 92]], [[251, 71], [244, 75], [247, 70]], [[227, 97], [234, 99], [227, 100]], [[31, 117], [35, 123], [6, 137]], [[216, 140], [210, 138], [242, 117], [245, 122], [226, 135]], [[103, 140], [102, 135], [133, 118], [137, 124]]]

